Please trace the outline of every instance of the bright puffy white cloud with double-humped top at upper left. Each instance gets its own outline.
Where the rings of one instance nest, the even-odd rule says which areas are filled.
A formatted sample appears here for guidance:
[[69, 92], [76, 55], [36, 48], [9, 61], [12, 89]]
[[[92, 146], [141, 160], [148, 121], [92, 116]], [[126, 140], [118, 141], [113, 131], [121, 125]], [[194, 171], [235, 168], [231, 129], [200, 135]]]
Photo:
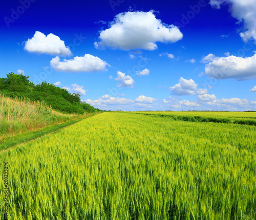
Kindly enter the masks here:
[[25, 42], [25, 50], [31, 53], [44, 53], [51, 55], [70, 56], [72, 55], [69, 47], [65, 46], [65, 42], [54, 34], [47, 36], [36, 31], [31, 39]]

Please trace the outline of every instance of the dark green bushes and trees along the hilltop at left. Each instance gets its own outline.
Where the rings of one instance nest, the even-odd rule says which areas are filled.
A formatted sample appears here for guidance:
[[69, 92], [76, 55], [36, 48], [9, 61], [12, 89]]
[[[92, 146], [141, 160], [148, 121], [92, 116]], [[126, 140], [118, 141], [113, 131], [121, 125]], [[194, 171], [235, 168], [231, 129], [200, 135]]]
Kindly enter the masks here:
[[99, 112], [86, 102], [81, 102], [80, 94], [70, 94], [46, 81], [34, 85], [29, 76], [23, 74], [7, 74], [7, 78], [0, 78], [0, 93], [10, 98], [29, 98], [31, 101], [45, 101], [48, 106], [63, 113], [84, 114]]

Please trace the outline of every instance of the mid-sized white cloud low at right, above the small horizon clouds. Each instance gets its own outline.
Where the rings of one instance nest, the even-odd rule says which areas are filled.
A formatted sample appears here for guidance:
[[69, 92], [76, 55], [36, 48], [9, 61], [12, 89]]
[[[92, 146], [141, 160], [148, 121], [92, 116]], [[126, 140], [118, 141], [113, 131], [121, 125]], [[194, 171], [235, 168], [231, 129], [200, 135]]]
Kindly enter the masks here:
[[195, 91], [197, 90], [198, 84], [195, 83], [193, 79], [184, 79], [180, 78], [179, 83], [169, 87], [171, 94], [184, 96], [184, 95], [195, 95]]

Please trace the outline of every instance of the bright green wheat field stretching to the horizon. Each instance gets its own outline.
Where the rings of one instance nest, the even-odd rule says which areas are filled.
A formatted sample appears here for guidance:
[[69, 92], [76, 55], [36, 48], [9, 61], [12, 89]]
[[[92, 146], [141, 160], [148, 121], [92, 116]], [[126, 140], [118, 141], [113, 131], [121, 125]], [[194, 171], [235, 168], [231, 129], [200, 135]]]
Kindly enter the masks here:
[[9, 219], [255, 219], [255, 121], [111, 112], [1, 152]]

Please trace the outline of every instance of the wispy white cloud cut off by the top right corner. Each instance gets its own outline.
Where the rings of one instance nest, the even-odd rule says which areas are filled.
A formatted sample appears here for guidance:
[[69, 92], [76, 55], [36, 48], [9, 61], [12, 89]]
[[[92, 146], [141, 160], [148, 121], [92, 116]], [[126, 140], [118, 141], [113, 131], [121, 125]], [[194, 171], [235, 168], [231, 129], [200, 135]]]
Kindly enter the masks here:
[[244, 41], [253, 38], [256, 41], [256, 3], [255, 0], [210, 0], [210, 5], [220, 8], [223, 4], [229, 4], [229, 10], [234, 18], [244, 23], [244, 32], [240, 36]]

